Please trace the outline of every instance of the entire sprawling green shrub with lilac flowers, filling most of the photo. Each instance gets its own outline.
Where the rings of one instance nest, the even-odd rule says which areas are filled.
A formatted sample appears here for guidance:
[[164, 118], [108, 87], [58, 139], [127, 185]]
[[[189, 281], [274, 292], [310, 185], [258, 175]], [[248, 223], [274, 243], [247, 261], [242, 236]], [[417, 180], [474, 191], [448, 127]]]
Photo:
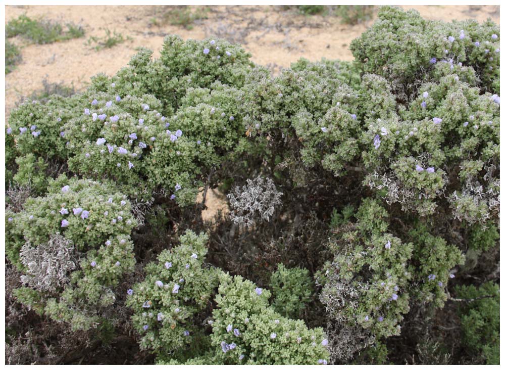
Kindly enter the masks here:
[[[82, 335], [134, 348], [110, 363], [498, 363], [499, 28], [383, 7], [351, 50], [273, 75], [167, 36], [20, 104], [8, 362]], [[216, 189], [231, 217], [204, 221]]]

